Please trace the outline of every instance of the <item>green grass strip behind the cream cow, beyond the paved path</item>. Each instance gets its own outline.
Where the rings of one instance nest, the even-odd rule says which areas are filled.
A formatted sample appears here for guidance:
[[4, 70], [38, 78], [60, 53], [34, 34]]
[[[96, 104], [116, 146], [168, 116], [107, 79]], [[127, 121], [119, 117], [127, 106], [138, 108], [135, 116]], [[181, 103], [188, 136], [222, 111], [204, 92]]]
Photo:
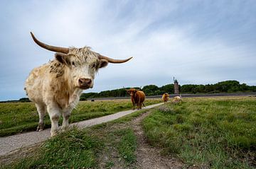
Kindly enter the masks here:
[[[152, 105], [160, 101], [160, 99], [146, 100], [145, 105]], [[130, 100], [82, 101], [73, 110], [69, 121], [70, 123], [80, 122], [129, 109], [132, 109]], [[59, 124], [61, 124], [61, 121], [60, 119]], [[35, 131], [37, 125], [38, 112], [33, 103], [0, 103], [0, 136]], [[49, 127], [50, 119], [46, 115], [45, 128]]]

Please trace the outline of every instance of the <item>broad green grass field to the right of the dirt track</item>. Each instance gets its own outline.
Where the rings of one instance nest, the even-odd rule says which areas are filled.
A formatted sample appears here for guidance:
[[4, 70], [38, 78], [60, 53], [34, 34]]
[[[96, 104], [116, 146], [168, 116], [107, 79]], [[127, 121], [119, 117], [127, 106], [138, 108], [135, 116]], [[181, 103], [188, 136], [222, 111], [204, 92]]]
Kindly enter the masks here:
[[252, 168], [256, 157], [255, 98], [184, 98], [143, 121], [149, 143], [186, 165]]

